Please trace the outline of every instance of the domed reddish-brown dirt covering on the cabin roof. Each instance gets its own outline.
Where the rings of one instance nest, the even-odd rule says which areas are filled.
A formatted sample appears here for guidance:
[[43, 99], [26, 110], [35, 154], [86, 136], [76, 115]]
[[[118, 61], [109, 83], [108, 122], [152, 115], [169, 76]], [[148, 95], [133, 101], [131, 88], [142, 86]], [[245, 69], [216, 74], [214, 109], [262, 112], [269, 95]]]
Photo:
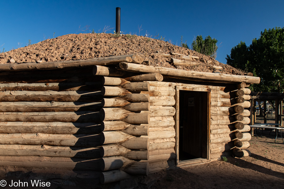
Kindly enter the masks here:
[[[181, 55], [172, 54], [170, 57], [164, 57], [161, 53], [198, 56], [199, 59], [194, 59], [196, 64], [191, 64], [190, 66], [175, 66], [170, 64], [171, 58], [181, 59]], [[81, 33], [59, 36], [54, 39], [47, 39], [26, 47], [0, 53], [0, 64], [24, 62], [38, 62], [40, 64], [42, 62], [82, 60], [127, 54], [138, 54], [145, 60], [148, 60], [147, 65], [151, 66], [209, 73], [214, 72], [212, 66], [219, 66], [223, 67], [223, 69], [215, 70], [215, 72], [244, 75], [242, 70], [222, 64], [196, 51], [158, 39], [130, 34], [120, 36], [106, 33]]]

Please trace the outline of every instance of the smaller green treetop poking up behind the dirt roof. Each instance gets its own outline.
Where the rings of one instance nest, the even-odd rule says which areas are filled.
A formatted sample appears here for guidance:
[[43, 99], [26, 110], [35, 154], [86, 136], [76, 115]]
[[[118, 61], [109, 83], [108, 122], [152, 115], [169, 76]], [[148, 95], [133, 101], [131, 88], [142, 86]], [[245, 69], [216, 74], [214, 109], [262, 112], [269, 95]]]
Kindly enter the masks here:
[[213, 59], [216, 59], [218, 49], [218, 46], [216, 45], [217, 42], [218, 41], [215, 38], [212, 39], [210, 36], [207, 36], [205, 39], [203, 39], [200, 35], [193, 40], [191, 46], [196, 52], [211, 56]]

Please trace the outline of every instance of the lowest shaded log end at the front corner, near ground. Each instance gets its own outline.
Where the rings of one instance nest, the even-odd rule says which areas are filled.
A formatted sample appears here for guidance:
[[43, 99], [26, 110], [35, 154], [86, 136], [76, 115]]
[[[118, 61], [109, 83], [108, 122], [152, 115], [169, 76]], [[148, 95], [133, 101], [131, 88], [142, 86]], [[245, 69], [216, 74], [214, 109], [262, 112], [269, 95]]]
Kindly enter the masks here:
[[100, 173], [100, 183], [107, 184], [111, 182], [117, 182], [120, 180], [131, 179], [132, 177], [133, 176], [122, 170], [112, 170]]

